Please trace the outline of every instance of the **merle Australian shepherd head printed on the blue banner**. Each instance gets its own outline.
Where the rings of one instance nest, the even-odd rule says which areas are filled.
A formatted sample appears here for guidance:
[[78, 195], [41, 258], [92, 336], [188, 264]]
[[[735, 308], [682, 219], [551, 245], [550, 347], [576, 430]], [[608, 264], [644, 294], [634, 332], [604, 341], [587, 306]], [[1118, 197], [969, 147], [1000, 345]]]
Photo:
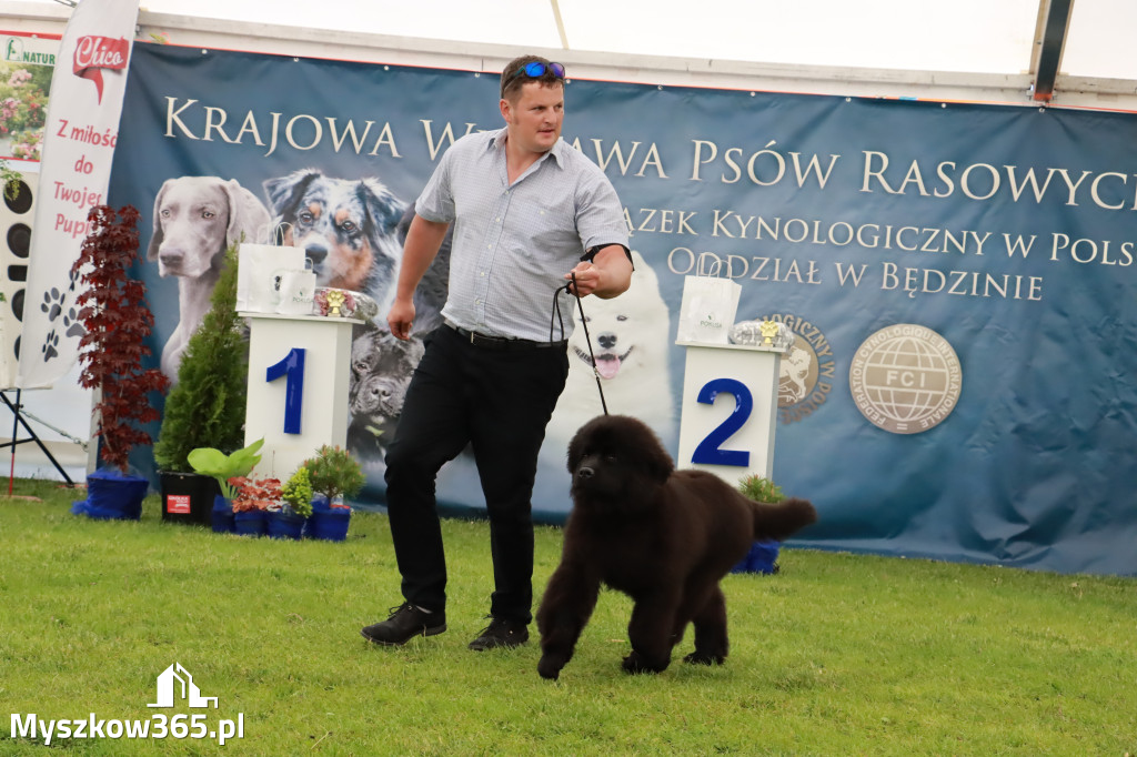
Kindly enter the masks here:
[[[401, 247], [396, 226], [406, 203], [375, 178], [332, 178], [298, 170], [265, 182], [287, 246], [302, 248], [321, 286], [366, 292], [391, 278]], [[385, 274], [385, 276], [384, 276]]]

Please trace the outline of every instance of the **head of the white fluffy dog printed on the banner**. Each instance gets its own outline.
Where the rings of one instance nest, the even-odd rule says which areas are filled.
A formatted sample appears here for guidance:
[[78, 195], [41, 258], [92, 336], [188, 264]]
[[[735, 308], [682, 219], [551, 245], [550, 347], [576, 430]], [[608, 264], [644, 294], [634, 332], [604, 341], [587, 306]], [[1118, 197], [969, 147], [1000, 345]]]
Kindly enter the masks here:
[[570, 355], [587, 367], [592, 375], [592, 355], [596, 372], [605, 381], [626, 375], [629, 368], [654, 367], [666, 360], [670, 340], [670, 311], [659, 294], [659, 282], [644, 257], [632, 250], [631, 285], [620, 297], [604, 300], [591, 297], [584, 305], [584, 322], [592, 340], [589, 353], [580, 311], [574, 314], [576, 327], [568, 340]]

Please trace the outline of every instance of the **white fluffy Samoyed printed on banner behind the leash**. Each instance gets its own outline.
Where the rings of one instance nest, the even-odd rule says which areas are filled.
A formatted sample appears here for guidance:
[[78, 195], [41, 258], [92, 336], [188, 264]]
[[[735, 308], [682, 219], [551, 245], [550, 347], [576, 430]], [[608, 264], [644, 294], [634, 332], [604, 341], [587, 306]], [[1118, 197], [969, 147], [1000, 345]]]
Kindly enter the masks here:
[[[670, 446], [677, 434], [669, 365], [671, 313], [652, 266], [634, 250], [632, 263], [636, 271], [626, 292], [609, 300], [582, 300], [588, 335], [608, 413], [639, 418]], [[575, 299], [572, 309], [575, 327], [568, 340], [568, 378], [541, 448], [542, 457], [551, 460], [555, 456], [562, 467], [576, 430], [604, 414]]]

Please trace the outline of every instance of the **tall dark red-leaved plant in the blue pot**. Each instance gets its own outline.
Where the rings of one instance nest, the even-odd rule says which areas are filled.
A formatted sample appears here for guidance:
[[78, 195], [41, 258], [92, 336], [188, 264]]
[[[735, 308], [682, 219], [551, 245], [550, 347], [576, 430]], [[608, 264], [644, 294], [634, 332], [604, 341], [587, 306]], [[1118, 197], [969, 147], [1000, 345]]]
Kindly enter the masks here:
[[160, 417], [147, 394], [165, 390], [169, 380], [157, 368], [142, 368], [142, 358], [150, 355], [146, 340], [153, 315], [146, 284], [130, 275], [139, 249], [138, 209], [126, 206], [116, 214], [99, 205], [86, 219], [91, 233], [72, 267], [72, 277], [83, 285], [75, 301], [86, 330], [78, 342], [78, 383], [100, 390], [94, 405], [99, 455], [126, 473], [131, 449], [150, 443], [150, 434], [138, 424]]

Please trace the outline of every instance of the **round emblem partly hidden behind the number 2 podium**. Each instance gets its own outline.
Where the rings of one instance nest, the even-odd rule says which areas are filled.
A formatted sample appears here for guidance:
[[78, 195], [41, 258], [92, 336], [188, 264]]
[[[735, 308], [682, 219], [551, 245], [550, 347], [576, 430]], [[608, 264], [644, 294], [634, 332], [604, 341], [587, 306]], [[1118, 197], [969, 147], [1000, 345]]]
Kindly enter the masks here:
[[778, 421], [797, 423], [813, 415], [833, 388], [833, 350], [820, 328], [789, 313], [761, 316], [794, 332], [794, 346], [778, 363]]

